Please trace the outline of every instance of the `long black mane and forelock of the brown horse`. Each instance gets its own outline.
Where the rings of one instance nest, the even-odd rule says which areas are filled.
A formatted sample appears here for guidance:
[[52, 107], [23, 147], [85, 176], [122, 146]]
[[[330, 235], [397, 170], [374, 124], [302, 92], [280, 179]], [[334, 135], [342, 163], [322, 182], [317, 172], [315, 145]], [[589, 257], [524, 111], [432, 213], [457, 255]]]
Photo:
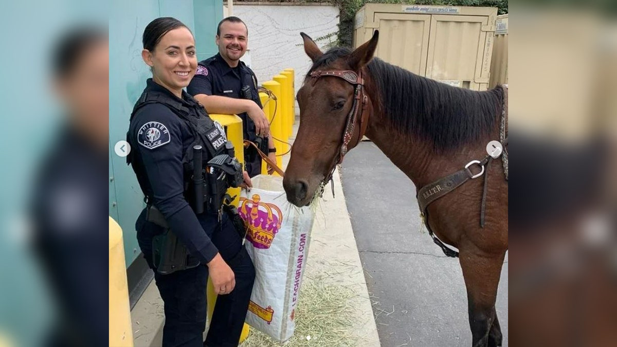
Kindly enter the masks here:
[[[350, 52], [349, 48], [329, 49], [313, 63], [307, 77], [313, 70], [328, 66]], [[367, 68], [379, 91], [379, 106], [386, 119], [391, 120], [391, 126], [399, 132], [433, 141], [437, 151], [479, 141], [495, 129], [499, 120], [502, 88], [488, 91], [457, 88], [378, 58]]]

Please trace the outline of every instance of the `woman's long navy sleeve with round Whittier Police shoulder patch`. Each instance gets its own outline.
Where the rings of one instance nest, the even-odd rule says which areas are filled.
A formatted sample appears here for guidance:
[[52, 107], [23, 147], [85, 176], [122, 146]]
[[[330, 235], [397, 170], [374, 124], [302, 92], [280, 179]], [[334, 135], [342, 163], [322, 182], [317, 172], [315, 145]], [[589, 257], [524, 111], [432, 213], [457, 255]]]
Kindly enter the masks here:
[[189, 252], [207, 264], [218, 249], [184, 199], [181, 120], [166, 106], [150, 104], [135, 114], [135, 121], [131, 136], [138, 144], [133, 150], [139, 151], [143, 161], [152, 203]]

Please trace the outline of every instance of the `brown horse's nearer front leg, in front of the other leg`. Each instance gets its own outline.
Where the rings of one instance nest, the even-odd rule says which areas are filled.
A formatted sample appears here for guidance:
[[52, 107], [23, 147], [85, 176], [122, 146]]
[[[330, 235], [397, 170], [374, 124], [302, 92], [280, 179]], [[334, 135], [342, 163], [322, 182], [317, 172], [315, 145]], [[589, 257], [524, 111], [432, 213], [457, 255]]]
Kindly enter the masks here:
[[[460, 250], [460, 264], [467, 287], [472, 346], [499, 346], [489, 345], [489, 332], [496, 321], [495, 299], [505, 251], [502, 254], [489, 255], [474, 246], [470, 248], [473, 250]], [[499, 323], [495, 328], [499, 330]]]

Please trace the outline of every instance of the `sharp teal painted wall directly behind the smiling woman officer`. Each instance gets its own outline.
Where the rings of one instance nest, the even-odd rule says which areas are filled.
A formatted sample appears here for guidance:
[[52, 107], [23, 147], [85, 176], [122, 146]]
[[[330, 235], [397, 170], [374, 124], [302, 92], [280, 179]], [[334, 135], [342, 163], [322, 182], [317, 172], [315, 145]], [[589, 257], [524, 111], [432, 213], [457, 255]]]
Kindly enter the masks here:
[[175, 17], [195, 36], [199, 60], [217, 52], [214, 36], [223, 19], [223, 0], [114, 0], [109, 20], [109, 215], [122, 227], [126, 267], [139, 255], [135, 220], [143, 194], [126, 159], [114, 153], [125, 140], [133, 105], [151, 77], [141, 59], [141, 35], [157, 17]]

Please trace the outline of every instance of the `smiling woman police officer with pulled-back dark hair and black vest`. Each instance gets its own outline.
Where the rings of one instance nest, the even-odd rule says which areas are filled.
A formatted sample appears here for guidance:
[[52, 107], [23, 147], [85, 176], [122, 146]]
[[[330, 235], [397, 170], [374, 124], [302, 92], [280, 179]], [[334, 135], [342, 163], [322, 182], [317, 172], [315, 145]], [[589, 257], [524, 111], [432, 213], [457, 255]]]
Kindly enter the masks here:
[[[255, 270], [227, 215], [220, 214], [220, 209], [196, 206], [188, 188], [195, 178], [188, 174], [193, 146], [203, 145], [203, 162], [207, 162], [228, 145], [225, 133], [183, 91], [197, 68], [191, 31], [176, 19], [155, 19], [144, 31], [143, 46], [141, 55], [151, 67], [152, 78], [131, 114], [128, 162], [147, 200], [136, 230], [165, 303], [163, 346], [202, 346], [208, 275], [219, 296], [203, 345], [237, 346]], [[243, 174], [250, 186], [250, 178]], [[242, 174], [238, 175], [241, 182]], [[173, 248], [174, 243], [174, 265], [165, 265], [173, 257], [165, 251], [170, 240], [186, 246], [188, 254], [178, 263], [181, 252]]]

